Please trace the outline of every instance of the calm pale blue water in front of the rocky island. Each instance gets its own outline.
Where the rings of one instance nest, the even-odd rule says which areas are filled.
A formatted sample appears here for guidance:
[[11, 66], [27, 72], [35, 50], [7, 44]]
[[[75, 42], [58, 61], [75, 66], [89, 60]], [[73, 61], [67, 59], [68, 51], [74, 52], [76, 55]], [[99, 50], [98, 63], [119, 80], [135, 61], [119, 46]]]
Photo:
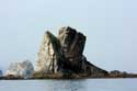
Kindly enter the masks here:
[[137, 91], [137, 79], [0, 80], [0, 91]]

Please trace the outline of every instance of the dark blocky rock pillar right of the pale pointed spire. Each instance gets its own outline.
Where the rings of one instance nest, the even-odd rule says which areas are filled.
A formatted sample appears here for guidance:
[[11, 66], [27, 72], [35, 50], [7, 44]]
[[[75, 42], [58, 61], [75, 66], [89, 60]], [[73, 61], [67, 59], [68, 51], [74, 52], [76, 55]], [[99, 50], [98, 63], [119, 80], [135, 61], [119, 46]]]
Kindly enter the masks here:
[[58, 39], [66, 57], [65, 68], [73, 72], [82, 72], [85, 36], [68, 26], [59, 30]]

